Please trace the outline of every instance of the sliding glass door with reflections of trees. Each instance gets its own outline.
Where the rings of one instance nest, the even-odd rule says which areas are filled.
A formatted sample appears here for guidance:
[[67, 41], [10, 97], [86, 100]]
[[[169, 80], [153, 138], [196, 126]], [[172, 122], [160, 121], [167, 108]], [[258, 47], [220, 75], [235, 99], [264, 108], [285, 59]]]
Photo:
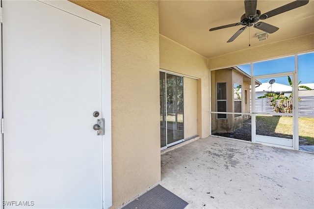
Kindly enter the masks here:
[[183, 77], [159, 72], [160, 147], [183, 141]]

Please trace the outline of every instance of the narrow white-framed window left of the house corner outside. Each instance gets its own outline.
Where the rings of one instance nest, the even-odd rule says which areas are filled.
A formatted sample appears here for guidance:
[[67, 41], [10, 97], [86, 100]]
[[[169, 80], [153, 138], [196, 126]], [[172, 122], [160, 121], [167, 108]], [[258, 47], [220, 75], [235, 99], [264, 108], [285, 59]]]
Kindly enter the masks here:
[[[217, 83], [217, 112], [227, 112], [227, 83]], [[217, 114], [218, 119], [226, 119], [227, 114]]]

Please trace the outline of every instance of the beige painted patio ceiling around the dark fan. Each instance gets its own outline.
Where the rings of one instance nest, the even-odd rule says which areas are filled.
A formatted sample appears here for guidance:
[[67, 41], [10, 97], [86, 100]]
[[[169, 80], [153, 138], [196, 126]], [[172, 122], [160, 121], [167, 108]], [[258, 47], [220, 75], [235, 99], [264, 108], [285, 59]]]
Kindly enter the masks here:
[[[262, 14], [294, 0], [258, 0]], [[159, 33], [207, 58], [277, 42], [314, 32], [314, 0], [305, 6], [262, 20], [279, 30], [259, 41], [248, 27], [235, 41], [227, 40], [241, 27], [234, 26], [215, 31], [209, 28], [240, 22], [245, 13], [244, 0], [160, 0]]]

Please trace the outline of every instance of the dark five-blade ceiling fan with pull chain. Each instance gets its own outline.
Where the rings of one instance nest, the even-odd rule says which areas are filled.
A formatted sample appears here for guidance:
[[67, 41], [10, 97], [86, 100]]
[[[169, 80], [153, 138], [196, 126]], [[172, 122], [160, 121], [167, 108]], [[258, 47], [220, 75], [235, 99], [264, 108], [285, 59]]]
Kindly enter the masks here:
[[244, 26], [241, 27], [236, 33], [227, 41], [227, 43], [232, 42], [238, 37], [247, 27], [254, 26], [260, 30], [263, 30], [267, 33], [276, 32], [279, 28], [276, 26], [269, 25], [267, 23], [258, 22], [259, 20], [265, 20], [267, 18], [273, 17], [275, 15], [279, 15], [281, 13], [287, 12], [291, 9], [298, 8], [300, 6], [304, 6], [309, 2], [309, 0], [295, 0], [286, 5], [280, 6], [276, 9], [273, 9], [269, 12], [266, 12], [261, 15], [261, 11], [257, 10], [257, 0], [244, 0], [245, 14], [241, 16], [239, 23], [234, 23], [226, 26], [219, 26], [210, 28], [209, 31], [218, 30], [227, 27], [233, 26]]

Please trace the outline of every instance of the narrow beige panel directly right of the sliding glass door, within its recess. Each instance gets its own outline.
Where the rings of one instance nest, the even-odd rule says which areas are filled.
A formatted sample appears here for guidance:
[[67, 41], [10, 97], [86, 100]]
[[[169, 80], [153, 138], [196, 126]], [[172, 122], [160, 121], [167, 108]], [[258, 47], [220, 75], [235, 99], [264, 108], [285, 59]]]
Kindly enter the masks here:
[[184, 138], [197, 135], [197, 80], [184, 78]]

